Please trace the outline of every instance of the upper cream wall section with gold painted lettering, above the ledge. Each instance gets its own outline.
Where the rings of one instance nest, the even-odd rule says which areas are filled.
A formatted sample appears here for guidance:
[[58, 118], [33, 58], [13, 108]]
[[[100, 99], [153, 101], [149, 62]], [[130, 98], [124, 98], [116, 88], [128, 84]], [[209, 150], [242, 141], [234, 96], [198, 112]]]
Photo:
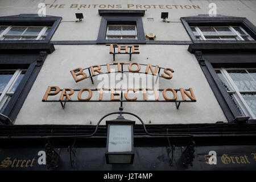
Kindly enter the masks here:
[[[53, 16], [62, 16], [63, 20], [60, 23], [59, 28], [53, 35], [52, 40], [96, 40], [98, 36], [98, 30], [100, 28], [101, 16], [98, 15], [98, 9], [112, 9], [112, 8], [99, 8], [99, 5], [122, 5], [122, 10], [146, 10], [146, 14], [143, 16], [143, 26], [145, 35], [148, 32], [154, 32], [156, 34], [155, 40], [190, 40], [187, 32], [185, 31], [183, 24], [180, 22], [180, 17], [183, 16], [195, 16], [198, 14], [208, 14], [209, 3], [214, 2], [217, 5], [217, 14], [227, 16], [242, 16], [249, 19], [252, 23], [256, 24], [256, 1], [204, 1], [204, 0], [179, 0], [179, 1], [35, 1], [35, 0], [8, 0], [0, 1], [0, 16], [16, 15], [21, 13], [38, 13], [38, 3], [43, 2], [47, 5], [46, 14]], [[79, 7], [71, 8], [71, 5], [87, 5], [86, 8]], [[127, 5], [131, 4], [134, 7], [128, 8]], [[57, 5], [57, 6], [56, 6]], [[63, 5], [63, 6], [60, 6]], [[91, 5], [88, 8], [88, 5]], [[93, 7], [92, 5], [97, 5]], [[139, 7], [136, 5], [151, 5], [150, 9]], [[159, 6], [152, 5], [179, 5], [177, 9], [172, 6], [172, 9], [160, 9]], [[182, 6], [182, 8], [180, 7]], [[200, 6], [200, 9], [186, 9], [184, 6]], [[56, 6], [56, 7], [55, 7]], [[188, 8], [189, 8], [188, 6]], [[63, 7], [63, 8], [62, 8]], [[148, 7], [148, 6], [146, 6]], [[161, 6], [166, 7], [166, 6]], [[118, 8], [115, 8], [118, 10]], [[119, 9], [119, 10], [121, 10]], [[163, 23], [160, 19], [160, 13], [163, 11], [169, 12], [168, 20], [170, 23]], [[76, 20], [75, 13], [83, 13], [85, 19], [83, 22], [75, 23], [69, 22]], [[154, 22], [148, 21], [147, 18], [154, 18]]]

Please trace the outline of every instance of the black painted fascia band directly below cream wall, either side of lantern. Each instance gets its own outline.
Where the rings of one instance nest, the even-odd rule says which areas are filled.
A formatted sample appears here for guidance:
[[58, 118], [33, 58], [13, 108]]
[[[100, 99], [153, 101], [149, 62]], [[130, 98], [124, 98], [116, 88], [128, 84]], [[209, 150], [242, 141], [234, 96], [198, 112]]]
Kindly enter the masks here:
[[[77, 146], [93, 144], [93, 146], [106, 145], [106, 126], [99, 126], [93, 137], [82, 137], [92, 134], [96, 126], [92, 125], [2, 125], [0, 126], [0, 140], [3, 145], [10, 143], [26, 145], [32, 142], [33, 146], [45, 144], [48, 139], [55, 144], [67, 146], [76, 138]], [[174, 124], [174, 125], [146, 125], [149, 133], [159, 134], [151, 137], [146, 135], [142, 125], [134, 127], [134, 141], [137, 146], [166, 146], [166, 130], [175, 144], [186, 143], [189, 137], [180, 137], [180, 134], [193, 135], [197, 146], [214, 144], [255, 144], [256, 124], [244, 123], [203, 123], [203, 124]], [[74, 137], [75, 136], [75, 137]], [[93, 141], [93, 142], [90, 142]], [[16, 145], [15, 145], [16, 146]]]

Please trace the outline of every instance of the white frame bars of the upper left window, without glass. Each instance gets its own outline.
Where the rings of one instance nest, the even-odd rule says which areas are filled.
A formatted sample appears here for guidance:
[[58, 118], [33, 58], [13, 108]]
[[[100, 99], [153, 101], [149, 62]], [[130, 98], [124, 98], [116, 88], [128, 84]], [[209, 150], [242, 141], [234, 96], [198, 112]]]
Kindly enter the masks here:
[[[1, 34], [0, 34], [0, 40], [4, 40], [5, 38], [19, 38], [19, 40], [22, 40], [22, 38], [36, 38], [35, 40], [42, 40], [43, 38], [46, 38], [47, 35], [44, 35], [48, 28], [47, 26], [1, 26], [1, 27], [7, 27]], [[12, 27], [27, 27], [22, 34], [20, 35], [6, 35], [7, 32], [11, 30]], [[28, 28], [42, 28], [42, 30], [39, 32], [38, 35], [23, 35]]]

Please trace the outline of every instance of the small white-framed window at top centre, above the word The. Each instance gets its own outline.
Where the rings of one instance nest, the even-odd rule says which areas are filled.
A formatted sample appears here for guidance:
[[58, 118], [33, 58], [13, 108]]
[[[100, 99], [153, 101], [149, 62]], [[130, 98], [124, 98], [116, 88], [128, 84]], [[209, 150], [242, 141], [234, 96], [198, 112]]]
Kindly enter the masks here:
[[108, 25], [106, 39], [137, 39], [135, 25]]

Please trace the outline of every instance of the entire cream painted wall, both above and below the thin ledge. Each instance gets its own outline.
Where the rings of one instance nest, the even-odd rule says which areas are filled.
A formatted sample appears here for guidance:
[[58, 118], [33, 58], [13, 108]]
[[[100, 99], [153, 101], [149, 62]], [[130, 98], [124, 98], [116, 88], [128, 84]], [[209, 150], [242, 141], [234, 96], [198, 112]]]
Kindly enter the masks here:
[[[142, 17], [145, 34], [154, 32], [155, 40], [190, 40], [180, 17], [208, 14], [208, 5], [214, 2], [217, 5], [217, 14], [227, 16], [241, 16], [256, 24], [256, 1], [35, 1], [35, 0], [9, 0], [0, 1], [0, 16], [17, 14], [38, 13], [38, 3], [49, 4], [47, 15], [62, 16], [63, 19], [57, 28], [52, 40], [96, 40], [100, 27], [101, 16], [98, 9], [94, 7], [70, 8], [71, 4], [79, 5], [122, 5], [122, 10], [127, 10], [127, 4], [133, 4], [130, 10], [140, 10], [136, 5], [151, 5], [145, 9], [146, 14]], [[56, 7], [50, 7], [57, 5]], [[63, 5], [63, 6], [60, 6]], [[152, 5], [179, 5], [177, 9], [160, 9]], [[180, 5], [183, 7], [181, 8]], [[185, 5], [200, 6], [200, 9], [185, 9]], [[61, 8], [63, 7], [63, 8]], [[117, 9], [117, 8], [115, 8]], [[170, 23], [162, 22], [160, 13], [169, 12]], [[75, 13], [83, 13], [85, 19], [82, 22], [75, 21]], [[154, 18], [154, 21], [148, 21]], [[67, 103], [62, 109], [60, 103], [44, 103], [42, 97], [47, 86], [57, 85], [60, 88], [96, 88], [90, 80], [76, 83], [70, 72], [77, 67], [86, 68], [90, 65], [113, 63], [109, 55], [109, 48], [104, 45], [55, 45], [56, 51], [49, 54], [18, 117], [16, 125], [28, 124], [81, 124], [96, 125], [98, 119], [107, 113], [118, 111], [118, 103]], [[194, 55], [187, 51], [188, 45], [140, 45], [139, 55], [133, 55], [132, 61], [138, 63], [158, 64], [160, 67], [174, 69], [172, 80], [160, 79], [160, 88], [193, 88], [197, 102], [181, 103], [180, 109], [176, 109], [174, 103], [131, 103], [123, 104], [124, 111], [138, 114], [145, 123], [151, 124], [174, 124], [174, 123], [214, 123], [216, 121], [226, 122], [224, 113], [216, 101], [209, 84], [197, 63]], [[117, 61], [129, 63], [127, 55], [117, 56]], [[96, 80], [96, 78], [94, 78]], [[55, 98], [58, 98], [59, 95]], [[76, 99], [76, 94], [72, 96]], [[114, 118], [110, 117], [109, 119]], [[126, 117], [134, 119], [131, 117]], [[138, 121], [137, 121], [138, 123]]]

